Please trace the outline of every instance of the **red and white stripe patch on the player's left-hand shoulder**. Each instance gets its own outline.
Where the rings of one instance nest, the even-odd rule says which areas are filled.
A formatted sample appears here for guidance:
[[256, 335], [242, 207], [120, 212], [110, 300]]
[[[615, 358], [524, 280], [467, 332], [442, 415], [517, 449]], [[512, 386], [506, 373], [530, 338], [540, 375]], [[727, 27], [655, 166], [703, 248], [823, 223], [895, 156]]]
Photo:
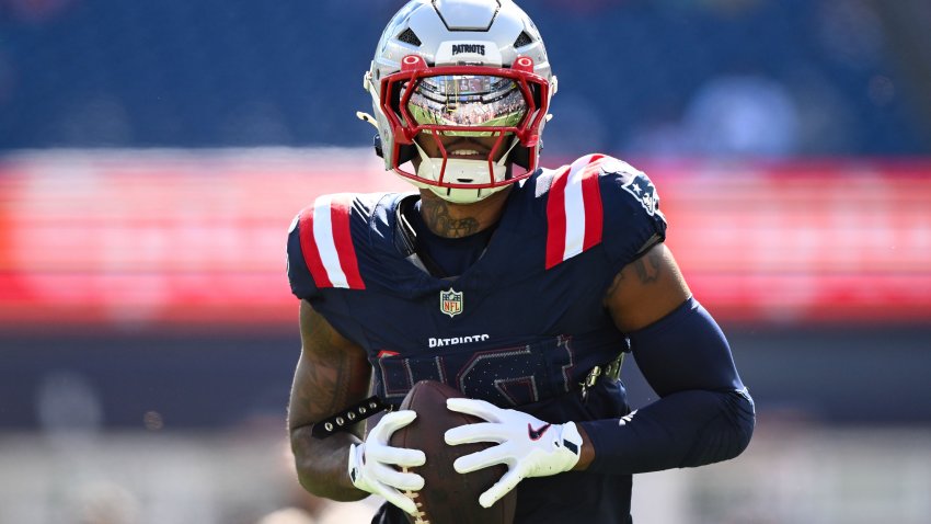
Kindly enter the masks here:
[[317, 287], [365, 289], [349, 232], [353, 195], [323, 195], [301, 212], [300, 247]]

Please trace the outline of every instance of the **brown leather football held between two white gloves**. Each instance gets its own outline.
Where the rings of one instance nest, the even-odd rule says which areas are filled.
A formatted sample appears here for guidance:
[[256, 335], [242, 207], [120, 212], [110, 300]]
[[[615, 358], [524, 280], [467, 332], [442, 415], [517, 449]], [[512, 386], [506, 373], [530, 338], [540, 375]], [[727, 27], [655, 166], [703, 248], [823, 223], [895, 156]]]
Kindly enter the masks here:
[[482, 422], [475, 417], [446, 409], [446, 399], [463, 397], [457, 389], [434, 380], [414, 385], [401, 409], [414, 410], [417, 418], [391, 435], [391, 445], [422, 449], [427, 456], [423, 466], [411, 468], [424, 477], [424, 489], [410, 493], [421, 514], [410, 516], [413, 523], [429, 524], [510, 524], [517, 505], [517, 492], [512, 491], [493, 506], [479, 505], [479, 495], [491, 488], [507, 471], [503, 465], [470, 474], [458, 474], [452, 463], [491, 443], [447, 445], [442, 434], [450, 428]]

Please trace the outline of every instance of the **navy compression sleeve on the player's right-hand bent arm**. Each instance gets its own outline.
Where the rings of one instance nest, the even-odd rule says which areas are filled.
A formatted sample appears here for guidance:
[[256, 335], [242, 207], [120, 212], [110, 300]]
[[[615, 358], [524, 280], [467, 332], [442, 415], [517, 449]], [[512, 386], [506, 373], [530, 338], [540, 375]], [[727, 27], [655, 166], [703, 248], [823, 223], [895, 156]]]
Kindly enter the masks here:
[[595, 448], [589, 470], [641, 474], [739, 455], [752, 435], [754, 401], [711, 315], [690, 298], [629, 337], [660, 399], [623, 419], [583, 422]]

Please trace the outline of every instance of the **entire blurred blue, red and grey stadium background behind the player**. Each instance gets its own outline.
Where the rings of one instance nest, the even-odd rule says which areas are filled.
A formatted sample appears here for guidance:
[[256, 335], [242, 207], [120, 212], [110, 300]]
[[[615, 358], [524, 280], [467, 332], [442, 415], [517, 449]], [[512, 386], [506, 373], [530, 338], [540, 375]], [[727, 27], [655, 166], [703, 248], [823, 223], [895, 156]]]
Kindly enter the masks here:
[[[406, 189], [354, 116], [401, 3], [0, 0], [0, 523], [367, 522], [288, 468], [284, 240]], [[522, 5], [545, 163], [651, 173], [757, 400], [739, 460], [639, 476], [636, 522], [931, 522], [931, 3]]]

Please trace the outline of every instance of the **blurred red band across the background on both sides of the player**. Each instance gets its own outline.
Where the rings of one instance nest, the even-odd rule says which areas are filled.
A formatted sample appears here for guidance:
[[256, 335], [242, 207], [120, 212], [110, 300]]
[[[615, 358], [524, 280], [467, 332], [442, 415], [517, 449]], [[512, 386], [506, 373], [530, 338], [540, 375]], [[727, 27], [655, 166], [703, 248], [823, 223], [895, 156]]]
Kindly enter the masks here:
[[[931, 321], [931, 161], [640, 167], [717, 318]], [[0, 328], [292, 328], [295, 214], [323, 193], [407, 187], [368, 150], [7, 158]]]

